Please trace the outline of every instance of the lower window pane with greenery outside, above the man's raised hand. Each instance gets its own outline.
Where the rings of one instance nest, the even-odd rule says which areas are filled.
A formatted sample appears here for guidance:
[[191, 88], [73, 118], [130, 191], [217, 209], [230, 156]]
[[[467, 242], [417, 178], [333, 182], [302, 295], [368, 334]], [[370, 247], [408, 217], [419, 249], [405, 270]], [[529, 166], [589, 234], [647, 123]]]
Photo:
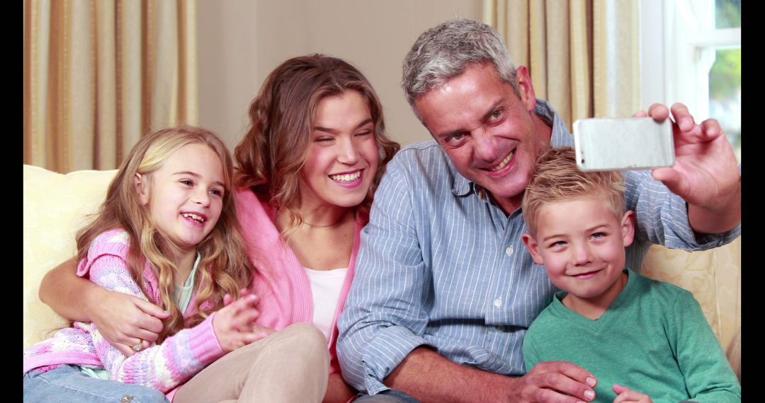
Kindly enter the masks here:
[[709, 70], [709, 115], [720, 122], [741, 162], [741, 47], [716, 53]]

